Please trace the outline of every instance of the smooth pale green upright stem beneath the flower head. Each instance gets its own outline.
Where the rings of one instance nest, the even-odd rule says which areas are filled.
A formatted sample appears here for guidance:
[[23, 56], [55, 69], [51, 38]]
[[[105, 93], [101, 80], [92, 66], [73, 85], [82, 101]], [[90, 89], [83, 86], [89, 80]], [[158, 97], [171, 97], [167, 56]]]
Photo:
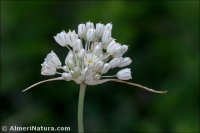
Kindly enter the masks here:
[[78, 99], [78, 132], [84, 133], [83, 128], [83, 108], [84, 108], [84, 96], [85, 96], [86, 85], [80, 85], [79, 99]]

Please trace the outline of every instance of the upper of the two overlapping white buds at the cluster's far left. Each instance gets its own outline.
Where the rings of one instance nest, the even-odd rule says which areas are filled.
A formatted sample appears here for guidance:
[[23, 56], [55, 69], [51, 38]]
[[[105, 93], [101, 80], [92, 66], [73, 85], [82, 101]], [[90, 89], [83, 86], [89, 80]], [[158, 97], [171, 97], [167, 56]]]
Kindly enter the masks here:
[[58, 56], [53, 51], [51, 51], [51, 53], [49, 53], [44, 60], [51, 67], [61, 66], [60, 59], [58, 58]]

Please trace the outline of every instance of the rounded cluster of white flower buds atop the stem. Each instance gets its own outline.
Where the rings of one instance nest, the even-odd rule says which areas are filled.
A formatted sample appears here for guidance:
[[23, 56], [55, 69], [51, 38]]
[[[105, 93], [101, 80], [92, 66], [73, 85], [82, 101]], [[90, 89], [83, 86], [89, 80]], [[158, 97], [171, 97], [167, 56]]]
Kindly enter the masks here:
[[[128, 46], [117, 43], [111, 34], [111, 23], [97, 23], [94, 26], [92, 22], [79, 24], [78, 33], [74, 30], [58, 33], [54, 36], [55, 41], [69, 50], [65, 63], [62, 65], [58, 56], [51, 51], [41, 64], [41, 74], [61, 74], [66, 81], [87, 85], [95, 85], [106, 77], [131, 79], [130, 68], [124, 68], [116, 75], [104, 76], [110, 69], [126, 67], [132, 62], [129, 57], [123, 57]], [[59, 69], [63, 72], [58, 72]]]

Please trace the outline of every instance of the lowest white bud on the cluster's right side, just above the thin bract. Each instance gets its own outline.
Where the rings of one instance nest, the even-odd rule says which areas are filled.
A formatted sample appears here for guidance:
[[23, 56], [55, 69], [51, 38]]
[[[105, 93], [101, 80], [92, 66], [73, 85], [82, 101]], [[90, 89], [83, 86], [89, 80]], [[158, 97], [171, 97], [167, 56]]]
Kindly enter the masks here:
[[117, 78], [121, 80], [129, 80], [131, 77], [131, 70], [129, 68], [125, 68], [117, 72]]

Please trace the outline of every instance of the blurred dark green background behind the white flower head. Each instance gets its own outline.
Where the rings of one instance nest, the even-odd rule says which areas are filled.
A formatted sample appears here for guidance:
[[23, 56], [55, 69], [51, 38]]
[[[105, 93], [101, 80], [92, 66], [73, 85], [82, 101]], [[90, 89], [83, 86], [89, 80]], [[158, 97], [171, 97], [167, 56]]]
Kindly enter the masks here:
[[[87, 132], [199, 132], [199, 1], [1, 0], [1, 125], [70, 126], [77, 131], [79, 86], [56, 81], [41, 63], [61, 30], [87, 21], [112, 22], [112, 36], [130, 45], [133, 79], [167, 94], [119, 83], [87, 87]], [[113, 73], [116, 72], [115, 70]], [[112, 72], [111, 72], [112, 73]]]

